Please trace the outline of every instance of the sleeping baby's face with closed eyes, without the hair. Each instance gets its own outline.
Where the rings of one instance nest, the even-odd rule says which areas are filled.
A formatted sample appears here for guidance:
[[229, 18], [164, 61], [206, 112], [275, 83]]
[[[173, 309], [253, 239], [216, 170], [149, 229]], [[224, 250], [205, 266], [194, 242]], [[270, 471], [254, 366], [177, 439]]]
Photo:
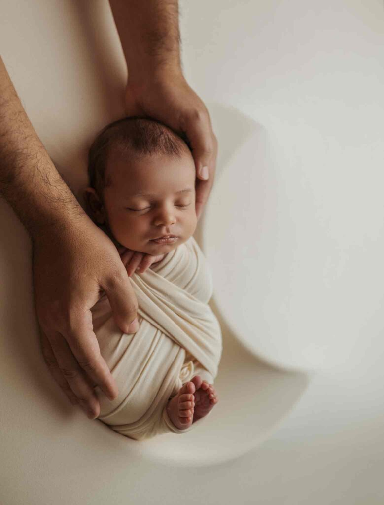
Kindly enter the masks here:
[[[106, 173], [112, 185], [103, 192], [105, 217], [122, 245], [161, 255], [193, 235], [197, 219], [192, 156], [147, 156], [134, 161], [111, 156]], [[171, 243], [153, 241], [163, 235], [177, 238]]]

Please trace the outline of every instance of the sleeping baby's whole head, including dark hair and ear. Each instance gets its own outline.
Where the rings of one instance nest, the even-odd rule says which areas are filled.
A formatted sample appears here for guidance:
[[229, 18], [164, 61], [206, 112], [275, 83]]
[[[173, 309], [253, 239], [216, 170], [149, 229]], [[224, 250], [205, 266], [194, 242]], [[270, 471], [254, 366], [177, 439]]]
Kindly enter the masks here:
[[[196, 228], [195, 163], [186, 141], [148, 118], [107, 125], [88, 155], [84, 191], [94, 222], [129, 249], [166, 254]], [[153, 239], [176, 235], [171, 243]]]

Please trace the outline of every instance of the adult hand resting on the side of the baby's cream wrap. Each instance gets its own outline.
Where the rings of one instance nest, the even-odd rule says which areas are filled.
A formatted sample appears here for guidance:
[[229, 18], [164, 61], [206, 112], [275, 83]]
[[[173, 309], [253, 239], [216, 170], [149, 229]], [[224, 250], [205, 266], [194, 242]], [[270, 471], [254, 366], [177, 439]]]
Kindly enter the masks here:
[[[89, 419], [100, 413], [95, 385], [116, 398], [118, 388], [100, 355], [90, 309], [104, 291], [125, 333], [137, 299], [114, 243], [90, 220], [46, 227], [32, 237], [36, 313], [44, 360], [54, 380]], [[133, 331], [132, 331], [133, 330]]]

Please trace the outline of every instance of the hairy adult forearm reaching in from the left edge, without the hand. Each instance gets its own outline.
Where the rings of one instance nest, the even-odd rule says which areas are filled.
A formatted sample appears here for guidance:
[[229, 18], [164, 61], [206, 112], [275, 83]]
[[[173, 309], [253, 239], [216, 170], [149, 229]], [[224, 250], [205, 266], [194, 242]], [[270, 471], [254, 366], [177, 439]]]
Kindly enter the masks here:
[[31, 236], [86, 218], [29, 121], [1, 57], [0, 194]]

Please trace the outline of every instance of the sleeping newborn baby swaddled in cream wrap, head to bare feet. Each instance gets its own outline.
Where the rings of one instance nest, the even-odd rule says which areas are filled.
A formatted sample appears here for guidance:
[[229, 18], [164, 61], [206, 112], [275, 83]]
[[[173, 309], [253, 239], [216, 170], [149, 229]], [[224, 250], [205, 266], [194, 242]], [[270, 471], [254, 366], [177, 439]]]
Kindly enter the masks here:
[[[91, 309], [100, 352], [118, 388], [110, 401], [96, 386], [100, 419], [142, 440], [184, 433], [217, 403], [220, 325], [208, 306], [209, 266], [196, 228], [195, 164], [167, 126], [125, 118], [106, 126], [88, 157], [87, 211], [119, 248], [160, 261], [130, 277], [139, 330], [122, 333], [105, 293]], [[156, 258], [157, 259], [157, 258]]]

